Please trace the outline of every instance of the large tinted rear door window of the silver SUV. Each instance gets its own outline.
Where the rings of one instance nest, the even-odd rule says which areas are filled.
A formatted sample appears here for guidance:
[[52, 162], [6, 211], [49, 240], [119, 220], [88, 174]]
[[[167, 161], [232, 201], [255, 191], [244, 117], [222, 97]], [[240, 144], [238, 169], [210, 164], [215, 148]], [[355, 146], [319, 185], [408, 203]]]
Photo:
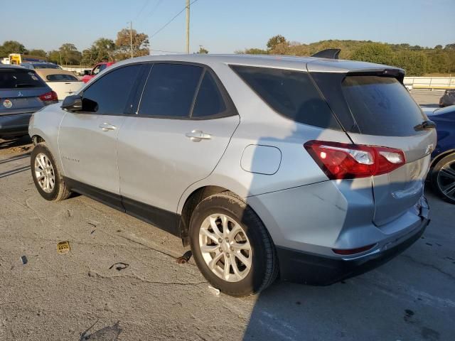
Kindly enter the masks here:
[[181, 64], [155, 64], [141, 97], [139, 114], [189, 117], [203, 68]]

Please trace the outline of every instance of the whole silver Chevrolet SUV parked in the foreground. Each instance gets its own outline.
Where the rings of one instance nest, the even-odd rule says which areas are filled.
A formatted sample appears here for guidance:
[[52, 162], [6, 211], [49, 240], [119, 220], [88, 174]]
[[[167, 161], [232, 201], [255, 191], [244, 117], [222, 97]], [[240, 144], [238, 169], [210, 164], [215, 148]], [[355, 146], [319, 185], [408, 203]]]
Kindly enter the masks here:
[[346, 60], [146, 56], [34, 114], [33, 180], [191, 245], [224, 293], [329, 284], [427, 226], [432, 121], [402, 70]]

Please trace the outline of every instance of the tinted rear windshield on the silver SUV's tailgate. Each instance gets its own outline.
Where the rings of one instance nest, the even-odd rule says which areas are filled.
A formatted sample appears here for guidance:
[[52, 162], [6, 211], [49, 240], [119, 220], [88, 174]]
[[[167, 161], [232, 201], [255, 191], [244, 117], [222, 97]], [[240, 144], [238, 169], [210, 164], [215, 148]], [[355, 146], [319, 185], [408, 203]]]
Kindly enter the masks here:
[[362, 134], [411, 136], [424, 121], [420, 107], [392, 77], [348, 76], [342, 83], [350, 112]]

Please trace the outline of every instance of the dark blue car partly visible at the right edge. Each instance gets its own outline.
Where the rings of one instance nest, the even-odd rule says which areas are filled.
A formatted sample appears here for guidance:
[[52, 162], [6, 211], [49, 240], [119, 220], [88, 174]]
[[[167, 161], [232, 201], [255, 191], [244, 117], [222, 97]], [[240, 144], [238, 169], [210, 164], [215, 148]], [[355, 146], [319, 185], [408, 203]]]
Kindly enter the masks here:
[[455, 105], [437, 109], [428, 116], [437, 124], [438, 134], [429, 179], [441, 197], [455, 204]]

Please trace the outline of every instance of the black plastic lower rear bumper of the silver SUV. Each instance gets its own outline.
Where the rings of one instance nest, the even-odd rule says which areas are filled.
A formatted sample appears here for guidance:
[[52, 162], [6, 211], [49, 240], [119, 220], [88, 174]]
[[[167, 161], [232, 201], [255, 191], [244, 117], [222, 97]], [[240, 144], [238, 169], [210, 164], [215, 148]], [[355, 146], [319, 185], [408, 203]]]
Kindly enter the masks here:
[[326, 286], [343, 279], [364, 274], [405, 251], [424, 233], [429, 224], [428, 207], [420, 224], [404, 236], [397, 237], [368, 254], [351, 259], [331, 258], [277, 247], [280, 278], [283, 281]]

